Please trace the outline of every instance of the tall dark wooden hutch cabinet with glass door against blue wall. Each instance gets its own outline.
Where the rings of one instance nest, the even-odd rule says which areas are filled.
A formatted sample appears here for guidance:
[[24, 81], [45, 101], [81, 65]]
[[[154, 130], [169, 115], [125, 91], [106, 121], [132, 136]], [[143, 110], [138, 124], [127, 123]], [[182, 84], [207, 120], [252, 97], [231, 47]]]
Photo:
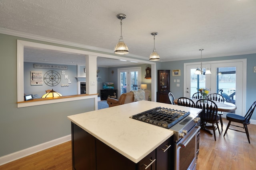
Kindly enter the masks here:
[[156, 101], [171, 104], [170, 92], [170, 70], [158, 70]]

